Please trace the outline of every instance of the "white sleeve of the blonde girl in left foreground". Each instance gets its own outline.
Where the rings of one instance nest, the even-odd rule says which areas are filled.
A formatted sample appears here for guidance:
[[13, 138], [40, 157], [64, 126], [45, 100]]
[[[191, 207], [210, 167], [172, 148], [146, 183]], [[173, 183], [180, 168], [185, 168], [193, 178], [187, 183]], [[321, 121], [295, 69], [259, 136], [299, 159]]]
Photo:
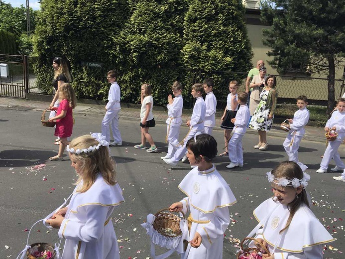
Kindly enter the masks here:
[[107, 220], [108, 207], [101, 205], [87, 205], [80, 208], [85, 213], [86, 222], [77, 222], [69, 219], [62, 221], [59, 229], [59, 238], [83, 242], [96, 242], [104, 233], [104, 224]]

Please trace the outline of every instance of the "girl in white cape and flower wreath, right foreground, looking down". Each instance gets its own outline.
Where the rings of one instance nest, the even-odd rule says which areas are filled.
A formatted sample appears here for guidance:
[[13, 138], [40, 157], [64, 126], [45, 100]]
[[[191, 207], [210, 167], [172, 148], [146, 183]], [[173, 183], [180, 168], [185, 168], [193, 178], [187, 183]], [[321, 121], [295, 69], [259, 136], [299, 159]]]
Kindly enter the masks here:
[[263, 258], [323, 259], [322, 246], [334, 239], [310, 210], [305, 190], [309, 174], [299, 164], [284, 161], [267, 172], [267, 178], [274, 196], [253, 212], [259, 222], [255, 238], [271, 254]]

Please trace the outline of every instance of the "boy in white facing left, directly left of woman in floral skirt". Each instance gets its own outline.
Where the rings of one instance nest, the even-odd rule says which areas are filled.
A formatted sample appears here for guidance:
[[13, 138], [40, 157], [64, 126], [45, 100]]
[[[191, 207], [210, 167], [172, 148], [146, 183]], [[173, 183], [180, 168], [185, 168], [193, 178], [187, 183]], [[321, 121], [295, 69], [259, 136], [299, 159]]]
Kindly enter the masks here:
[[227, 168], [243, 166], [242, 137], [247, 130], [246, 126], [250, 118], [249, 108], [246, 104], [248, 100], [248, 94], [237, 94], [237, 100], [240, 107], [237, 110], [236, 117], [231, 120], [231, 123], [233, 123], [235, 127], [232, 129], [232, 137], [229, 141], [230, 164], [227, 165]]

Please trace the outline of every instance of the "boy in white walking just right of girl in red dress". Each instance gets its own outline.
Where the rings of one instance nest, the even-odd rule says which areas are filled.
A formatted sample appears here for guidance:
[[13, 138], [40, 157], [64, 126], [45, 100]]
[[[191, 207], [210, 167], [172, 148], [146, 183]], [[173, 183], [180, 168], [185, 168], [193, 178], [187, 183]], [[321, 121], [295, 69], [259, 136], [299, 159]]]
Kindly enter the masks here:
[[[117, 79], [117, 72], [115, 70], [111, 70], [108, 72], [107, 76], [108, 82], [112, 85], [110, 86], [109, 94], [108, 94], [108, 104], [106, 105], [106, 115], [102, 121], [102, 134], [106, 136], [106, 140], [110, 145], [122, 145], [122, 138], [120, 134], [120, 130], [118, 129], [118, 113], [121, 110], [120, 100], [120, 87], [118, 86], [116, 79]], [[112, 128], [114, 141], [110, 141], [110, 130]]]

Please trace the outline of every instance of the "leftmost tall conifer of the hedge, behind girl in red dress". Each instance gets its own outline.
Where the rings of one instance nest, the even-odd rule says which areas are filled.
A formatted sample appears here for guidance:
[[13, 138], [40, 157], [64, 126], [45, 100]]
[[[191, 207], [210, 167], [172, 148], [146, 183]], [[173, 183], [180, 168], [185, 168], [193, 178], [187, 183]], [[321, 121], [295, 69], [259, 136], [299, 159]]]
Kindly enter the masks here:
[[[128, 13], [126, 0], [42, 1], [35, 31], [39, 89], [52, 91], [51, 62], [61, 56], [70, 62], [77, 96], [103, 99], [109, 90], [107, 72], [117, 64], [111, 52]], [[100, 62], [103, 67], [88, 67], [83, 61]]]

